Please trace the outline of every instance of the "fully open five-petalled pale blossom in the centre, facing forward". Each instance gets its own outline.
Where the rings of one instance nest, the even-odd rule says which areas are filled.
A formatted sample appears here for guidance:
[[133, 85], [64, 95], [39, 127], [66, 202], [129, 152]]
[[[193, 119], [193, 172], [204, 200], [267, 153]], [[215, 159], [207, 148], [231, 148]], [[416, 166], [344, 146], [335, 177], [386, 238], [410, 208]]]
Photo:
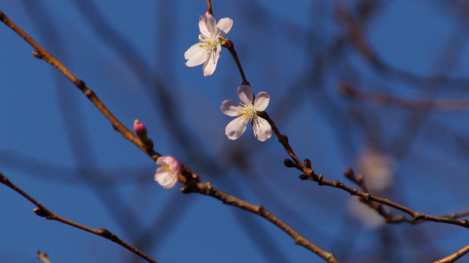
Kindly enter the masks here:
[[225, 134], [229, 139], [239, 138], [246, 130], [248, 122], [252, 124], [254, 136], [259, 141], [265, 141], [272, 136], [272, 127], [267, 120], [257, 116], [269, 105], [269, 94], [259, 92], [254, 104], [252, 104], [253, 94], [249, 85], [238, 87], [238, 95], [242, 103], [236, 103], [232, 100], [225, 100], [221, 103], [221, 111], [228, 116], [237, 116], [236, 119], [228, 123]]

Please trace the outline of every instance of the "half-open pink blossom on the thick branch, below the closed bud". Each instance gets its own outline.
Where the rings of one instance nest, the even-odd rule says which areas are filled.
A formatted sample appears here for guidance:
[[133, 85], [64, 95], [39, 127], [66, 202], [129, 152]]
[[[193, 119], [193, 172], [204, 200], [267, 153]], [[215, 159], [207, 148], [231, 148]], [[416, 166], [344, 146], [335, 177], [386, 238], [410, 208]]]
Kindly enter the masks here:
[[181, 164], [172, 156], [162, 156], [156, 160], [156, 164], [161, 167], [156, 169], [155, 181], [165, 189], [172, 188], [177, 182], [177, 175], [181, 173]]

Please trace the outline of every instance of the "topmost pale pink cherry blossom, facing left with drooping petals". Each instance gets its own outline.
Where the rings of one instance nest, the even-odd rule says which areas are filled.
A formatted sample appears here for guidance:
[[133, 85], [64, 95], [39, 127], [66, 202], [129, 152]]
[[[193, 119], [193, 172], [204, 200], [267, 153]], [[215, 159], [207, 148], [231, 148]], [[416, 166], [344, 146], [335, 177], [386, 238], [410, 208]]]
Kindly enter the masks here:
[[[233, 20], [228, 17], [222, 18], [215, 23], [215, 18], [208, 12], [204, 17], [199, 18], [199, 43], [192, 45], [184, 53], [188, 67], [194, 67], [204, 63], [204, 76], [212, 75], [217, 67], [217, 61], [220, 56], [221, 43], [224, 42], [223, 37], [231, 29]], [[221, 43], [220, 43], [221, 42]]]

